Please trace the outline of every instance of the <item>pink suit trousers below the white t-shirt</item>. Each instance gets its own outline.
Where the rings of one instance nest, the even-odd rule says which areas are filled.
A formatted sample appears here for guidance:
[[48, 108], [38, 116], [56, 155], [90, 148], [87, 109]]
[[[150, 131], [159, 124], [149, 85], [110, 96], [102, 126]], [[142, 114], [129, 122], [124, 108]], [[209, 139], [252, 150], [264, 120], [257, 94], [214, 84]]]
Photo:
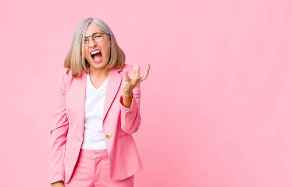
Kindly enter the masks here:
[[80, 150], [72, 178], [65, 187], [133, 187], [134, 176], [122, 181], [110, 179], [107, 150]]

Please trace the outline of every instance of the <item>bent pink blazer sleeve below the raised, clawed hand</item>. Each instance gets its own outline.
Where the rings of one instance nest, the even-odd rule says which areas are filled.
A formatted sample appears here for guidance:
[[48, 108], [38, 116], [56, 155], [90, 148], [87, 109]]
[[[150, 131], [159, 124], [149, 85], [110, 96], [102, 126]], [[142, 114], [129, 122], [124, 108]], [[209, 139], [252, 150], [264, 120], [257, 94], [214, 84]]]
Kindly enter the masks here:
[[121, 128], [128, 134], [137, 132], [141, 124], [140, 116], [140, 84], [133, 89], [133, 97], [130, 108], [123, 106], [123, 96], [120, 97]]

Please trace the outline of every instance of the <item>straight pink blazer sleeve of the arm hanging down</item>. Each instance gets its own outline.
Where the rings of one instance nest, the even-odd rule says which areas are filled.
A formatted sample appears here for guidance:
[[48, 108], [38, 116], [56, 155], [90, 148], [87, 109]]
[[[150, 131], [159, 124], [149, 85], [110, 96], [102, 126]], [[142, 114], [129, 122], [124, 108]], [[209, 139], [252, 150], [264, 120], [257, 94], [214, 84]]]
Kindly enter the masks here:
[[53, 128], [51, 130], [49, 154], [50, 184], [56, 181], [64, 181], [64, 153], [69, 127], [65, 106], [66, 87], [64, 83], [64, 71], [65, 69], [59, 75], [53, 113]]

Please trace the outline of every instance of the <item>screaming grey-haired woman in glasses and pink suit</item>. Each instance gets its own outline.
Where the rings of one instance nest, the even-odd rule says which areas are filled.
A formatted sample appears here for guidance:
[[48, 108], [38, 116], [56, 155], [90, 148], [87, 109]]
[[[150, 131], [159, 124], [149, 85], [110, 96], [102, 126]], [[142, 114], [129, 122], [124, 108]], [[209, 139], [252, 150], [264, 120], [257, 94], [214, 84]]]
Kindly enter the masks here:
[[143, 166], [131, 134], [141, 122], [138, 65], [109, 26], [87, 18], [77, 27], [57, 84], [51, 131], [52, 187], [133, 187]]

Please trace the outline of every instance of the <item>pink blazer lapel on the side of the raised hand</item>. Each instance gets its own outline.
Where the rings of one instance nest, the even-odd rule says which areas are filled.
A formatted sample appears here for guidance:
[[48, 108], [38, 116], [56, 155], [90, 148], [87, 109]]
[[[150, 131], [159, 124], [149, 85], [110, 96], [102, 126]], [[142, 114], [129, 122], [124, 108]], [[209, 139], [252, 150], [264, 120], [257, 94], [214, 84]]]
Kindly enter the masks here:
[[119, 71], [122, 69], [110, 69], [109, 79], [108, 79], [108, 85], [107, 85], [107, 94], [106, 94], [106, 100], [105, 100], [105, 106], [104, 106], [104, 114], [103, 114], [103, 120], [108, 114], [108, 111], [110, 109], [110, 105], [113, 102], [113, 99], [115, 98], [121, 82], [122, 82], [122, 76], [120, 75]]

